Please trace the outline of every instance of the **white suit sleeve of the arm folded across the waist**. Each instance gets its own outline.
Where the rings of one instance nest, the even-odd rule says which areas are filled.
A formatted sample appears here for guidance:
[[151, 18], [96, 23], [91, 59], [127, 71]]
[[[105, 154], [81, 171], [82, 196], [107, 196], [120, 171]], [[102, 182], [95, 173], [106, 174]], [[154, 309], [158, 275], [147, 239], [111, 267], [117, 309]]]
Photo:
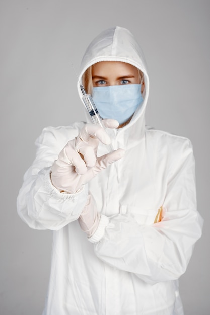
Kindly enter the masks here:
[[162, 221], [152, 225], [141, 225], [129, 215], [102, 215], [89, 239], [96, 255], [150, 284], [178, 279], [185, 272], [202, 228], [189, 140], [174, 154], [163, 206]]

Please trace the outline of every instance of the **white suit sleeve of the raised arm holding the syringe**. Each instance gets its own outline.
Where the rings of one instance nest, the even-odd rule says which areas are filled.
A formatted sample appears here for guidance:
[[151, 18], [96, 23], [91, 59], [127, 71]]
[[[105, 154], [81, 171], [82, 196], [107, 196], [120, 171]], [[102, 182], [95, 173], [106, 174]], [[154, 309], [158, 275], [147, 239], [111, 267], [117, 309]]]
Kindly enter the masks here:
[[54, 160], [77, 133], [77, 128], [69, 128], [66, 136], [60, 128], [48, 127], [36, 140], [36, 158], [17, 198], [18, 214], [31, 228], [58, 230], [78, 219], [86, 204], [87, 186], [75, 194], [60, 193], [50, 179]]

